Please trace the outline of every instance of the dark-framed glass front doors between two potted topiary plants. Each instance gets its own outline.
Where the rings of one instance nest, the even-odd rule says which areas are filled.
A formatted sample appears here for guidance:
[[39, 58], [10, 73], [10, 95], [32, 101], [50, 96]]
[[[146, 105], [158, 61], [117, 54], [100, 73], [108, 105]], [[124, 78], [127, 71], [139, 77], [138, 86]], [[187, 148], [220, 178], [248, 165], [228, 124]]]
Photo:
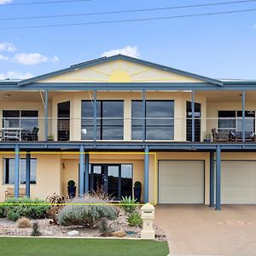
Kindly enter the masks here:
[[132, 166], [121, 164], [91, 164], [90, 190], [102, 189], [111, 199], [132, 195]]

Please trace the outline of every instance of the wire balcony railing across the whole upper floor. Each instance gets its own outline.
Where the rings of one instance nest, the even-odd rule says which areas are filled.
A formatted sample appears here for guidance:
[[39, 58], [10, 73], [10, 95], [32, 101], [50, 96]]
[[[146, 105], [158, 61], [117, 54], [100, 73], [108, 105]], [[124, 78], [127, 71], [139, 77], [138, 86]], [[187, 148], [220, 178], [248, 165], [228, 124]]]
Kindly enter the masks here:
[[255, 141], [255, 118], [2, 118], [7, 141]]

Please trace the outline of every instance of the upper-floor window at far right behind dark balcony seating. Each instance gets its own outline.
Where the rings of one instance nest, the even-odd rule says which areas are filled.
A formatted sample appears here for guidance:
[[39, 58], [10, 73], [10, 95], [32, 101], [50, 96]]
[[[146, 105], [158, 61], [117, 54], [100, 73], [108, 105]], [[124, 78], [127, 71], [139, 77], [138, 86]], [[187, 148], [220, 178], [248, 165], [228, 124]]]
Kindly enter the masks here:
[[[255, 130], [255, 112], [245, 111], [245, 131]], [[242, 131], [242, 112], [236, 110], [218, 111], [218, 131]]]

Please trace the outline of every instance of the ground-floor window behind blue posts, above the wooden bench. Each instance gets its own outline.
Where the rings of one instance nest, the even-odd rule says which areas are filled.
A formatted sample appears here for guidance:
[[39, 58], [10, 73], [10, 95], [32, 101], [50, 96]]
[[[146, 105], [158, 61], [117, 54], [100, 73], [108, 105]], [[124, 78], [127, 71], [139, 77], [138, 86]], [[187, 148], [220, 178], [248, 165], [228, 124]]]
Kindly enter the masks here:
[[[3, 180], [4, 184], [15, 183], [15, 159], [5, 158], [3, 161], [4, 173]], [[31, 159], [30, 164], [30, 183], [37, 183], [37, 159]], [[26, 183], [26, 159], [20, 159], [20, 183]]]

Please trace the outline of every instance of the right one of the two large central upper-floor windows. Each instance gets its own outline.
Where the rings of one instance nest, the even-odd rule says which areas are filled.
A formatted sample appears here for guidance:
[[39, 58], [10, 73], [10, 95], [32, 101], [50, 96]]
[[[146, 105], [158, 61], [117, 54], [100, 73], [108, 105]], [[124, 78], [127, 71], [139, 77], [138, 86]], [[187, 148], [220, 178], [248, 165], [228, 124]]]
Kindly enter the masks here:
[[[143, 116], [145, 115], [145, 119]], [[143, 139], [143, 125], [145, 125], [145, 139], [173, 140], [174, 138], [174, 102], [146, 101], [143, 113], [143, 101], [131, 102], [131, 139]], [[144, 123], [145, 120], [145, 124]]]

